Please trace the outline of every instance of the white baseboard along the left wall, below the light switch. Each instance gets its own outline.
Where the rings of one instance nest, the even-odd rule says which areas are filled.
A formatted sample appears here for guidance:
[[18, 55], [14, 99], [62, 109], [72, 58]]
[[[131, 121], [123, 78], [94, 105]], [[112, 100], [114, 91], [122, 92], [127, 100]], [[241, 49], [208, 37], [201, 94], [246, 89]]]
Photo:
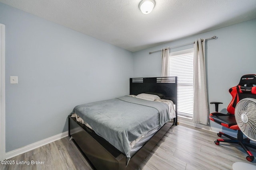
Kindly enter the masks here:
[[38, 147], [42, 147], [42, 146], [44, 146], [44, 145], [46, 145], [46, 144], [48, 144], [48, 143], [52, 143], [52, 142], [54, 142], [54, 141], [57, 141], [57, 140], [59, 140], [59, 139], [62, 139], [62, 138], [64, 138], [64, 137], [67, 137], [67, 136], [68, 136], [68, 131], [63, 132], [63, 133], [60, 133], [60, 134], [55, 135], [55, 136], [53, 136], [53, 137], [49, 137], [49, 138], [47, 138], [47, 139], [43, 139], [42, 141], [38, 141], [38, 142], [36, 142], [36, 143], [32, 143], [32, 144], [30, 144], [30, 145], [27, 145], [27, 146], [25, 146], [25, 147], [22, 147], [22, 148], [15, 149], [15, 150], [12, 150], [12, 151], [10, 151], [10, 152], [7, 152], [7, 153], [5, 154], [5, 158], [6, 158], [6, 159], [10, 159], [10, 158], [12, 158], [12, 157], [14, 157], [14, 156], [18, 156], [18, 155], [23, 154], [23, 153], [26, 153], [26, 152], [28, 152], [28, 151], [30, 151], [30, 150], [36, 149], [36, 148], [38, 148]]

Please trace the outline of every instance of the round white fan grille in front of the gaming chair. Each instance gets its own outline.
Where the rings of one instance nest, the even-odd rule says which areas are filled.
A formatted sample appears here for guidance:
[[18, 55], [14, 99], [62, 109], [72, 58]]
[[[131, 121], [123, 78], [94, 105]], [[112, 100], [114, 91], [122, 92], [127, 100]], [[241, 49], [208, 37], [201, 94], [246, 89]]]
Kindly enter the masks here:
[[235, 108], [236, 123], [249, 139], [256, 141], [256, 99], [244, 98]]

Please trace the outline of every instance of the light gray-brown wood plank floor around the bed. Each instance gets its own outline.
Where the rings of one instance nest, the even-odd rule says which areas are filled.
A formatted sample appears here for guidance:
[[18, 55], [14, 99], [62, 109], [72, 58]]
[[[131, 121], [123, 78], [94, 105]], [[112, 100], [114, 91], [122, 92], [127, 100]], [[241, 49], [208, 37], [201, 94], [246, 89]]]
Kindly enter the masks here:
[[[151, 154], [142, 162], [142, 170], [232, 170], [234, 162], [248, 162], [246, 153], [236, 144], [214, 144], [216, 133], [178, 125], [172, 127]], [[225, 137], [223, 137], [225, 138]], [[14, 165], [0, 164], [0, 170], [90, 170], [82, 154], [68, 137], [20, 154], [9, 160]], [[251, 149], [256, 157], [256, 150]], [[31, 161], [43, 164], [31, 164]], [[20, 164], [17, 164], [17, 161]], [[23, 162], [30, 164], [22, 164]]]

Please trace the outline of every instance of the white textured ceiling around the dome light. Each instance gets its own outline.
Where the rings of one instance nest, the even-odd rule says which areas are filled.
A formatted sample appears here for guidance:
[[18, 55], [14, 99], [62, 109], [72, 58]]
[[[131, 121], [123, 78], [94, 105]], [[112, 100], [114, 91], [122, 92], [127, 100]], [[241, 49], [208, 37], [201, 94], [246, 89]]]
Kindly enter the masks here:
[[256, 18], [256, 0], [0, 0], [0, 2], [129, 51]]

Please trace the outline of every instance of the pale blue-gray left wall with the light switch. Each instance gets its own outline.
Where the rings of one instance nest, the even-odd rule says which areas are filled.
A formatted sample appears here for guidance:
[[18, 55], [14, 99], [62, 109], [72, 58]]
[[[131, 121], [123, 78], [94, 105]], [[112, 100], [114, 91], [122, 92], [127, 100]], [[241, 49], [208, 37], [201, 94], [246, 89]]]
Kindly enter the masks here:
[[2, 3], [0, 23], [6, 26], [6, 152], [67, 131], [78, 104], [129, 94], [130, 51]]

